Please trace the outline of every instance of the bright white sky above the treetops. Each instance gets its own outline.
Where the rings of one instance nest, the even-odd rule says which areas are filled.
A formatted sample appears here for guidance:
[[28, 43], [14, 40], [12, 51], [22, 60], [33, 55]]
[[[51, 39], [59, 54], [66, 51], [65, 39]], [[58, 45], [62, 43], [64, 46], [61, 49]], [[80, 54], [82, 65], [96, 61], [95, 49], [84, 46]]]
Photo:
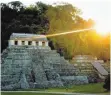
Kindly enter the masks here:
[[[8, 3], [17, 0], [2, 0], [2, 3]], [[111, 31], [111, 0], [18, 0], [24, 5], [28, 6], [35, 2], [42, 1], [46, 4], [53, 4], [55, 2], [68, 2], [77, 8], [81, 9], [82, 17], [84, 19], [93, 19], [97, 27], [102, 30]]]

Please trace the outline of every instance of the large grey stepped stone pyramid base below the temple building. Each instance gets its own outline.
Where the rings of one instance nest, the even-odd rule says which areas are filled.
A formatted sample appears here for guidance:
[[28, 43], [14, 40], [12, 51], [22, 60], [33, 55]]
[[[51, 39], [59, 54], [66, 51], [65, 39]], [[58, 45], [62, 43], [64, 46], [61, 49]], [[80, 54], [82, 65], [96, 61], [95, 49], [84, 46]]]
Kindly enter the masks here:
[[88, 83], [78, 69], [50, 47], [11, 46], [2, 53], [1, 89], [60, 87]]

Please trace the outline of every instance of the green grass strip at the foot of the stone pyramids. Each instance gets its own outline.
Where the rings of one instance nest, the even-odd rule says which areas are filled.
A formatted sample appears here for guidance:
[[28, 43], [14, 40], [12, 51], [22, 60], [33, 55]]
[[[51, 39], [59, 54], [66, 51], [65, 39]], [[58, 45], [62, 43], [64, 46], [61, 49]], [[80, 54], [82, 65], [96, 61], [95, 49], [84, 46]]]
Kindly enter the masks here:
[[[27, 92], [2, 92], [1, 95], [64, 95], [64, 94], [50, 94], [50, 93], [32, 93], [28, 91], [45, 91], [45, 92], [66, 92], [66, 93], [96, 93], [101, 95], [109, 95], [110, 92], [106, 92], [103, 88], [104, 83], [91, 83], [85, 85], [75, 85], [61, 88], [47, 88], [47, 89], [27, 89]], [[26, 91], [26, 90], [25, 90]]]

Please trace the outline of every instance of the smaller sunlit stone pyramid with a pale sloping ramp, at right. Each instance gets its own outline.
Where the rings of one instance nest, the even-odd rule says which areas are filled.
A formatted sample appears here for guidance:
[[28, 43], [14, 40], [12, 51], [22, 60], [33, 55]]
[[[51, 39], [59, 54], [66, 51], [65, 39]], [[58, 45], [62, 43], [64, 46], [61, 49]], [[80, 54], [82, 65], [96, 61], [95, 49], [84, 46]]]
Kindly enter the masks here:
[[110, 64], [92, 55], [76, 55], [71, 61], [79, 69], [78, 75], [86, 75], [89, 83], [104, 81], [110, 73]]

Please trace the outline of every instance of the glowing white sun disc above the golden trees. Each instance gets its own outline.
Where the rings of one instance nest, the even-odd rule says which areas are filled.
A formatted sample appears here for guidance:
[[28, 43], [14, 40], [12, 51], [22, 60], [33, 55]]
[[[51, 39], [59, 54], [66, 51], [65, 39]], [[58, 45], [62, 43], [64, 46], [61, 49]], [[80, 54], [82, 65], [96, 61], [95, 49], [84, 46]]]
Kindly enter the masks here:
[[96, 24], [94, 29], [97, 31], [98, 34], [105, 36], [111, 32], [111, 27], [108, 25], [104, 25], [102, 23]]

